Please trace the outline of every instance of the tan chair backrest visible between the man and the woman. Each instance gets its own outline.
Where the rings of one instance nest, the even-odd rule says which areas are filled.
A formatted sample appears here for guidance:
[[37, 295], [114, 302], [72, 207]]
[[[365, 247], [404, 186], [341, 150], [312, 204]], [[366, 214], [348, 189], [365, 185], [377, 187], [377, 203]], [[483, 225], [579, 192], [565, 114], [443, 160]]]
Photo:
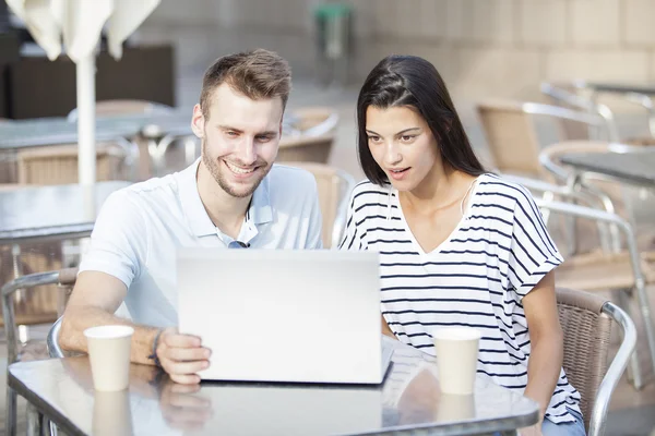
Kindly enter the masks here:
[[325, 249], [336, 249], [345, 231], [347, 203], [355, 179], [337, 168], [315, 162], [282, 162], [302, 168], [317, 179], [323, 216], [322, 240]]

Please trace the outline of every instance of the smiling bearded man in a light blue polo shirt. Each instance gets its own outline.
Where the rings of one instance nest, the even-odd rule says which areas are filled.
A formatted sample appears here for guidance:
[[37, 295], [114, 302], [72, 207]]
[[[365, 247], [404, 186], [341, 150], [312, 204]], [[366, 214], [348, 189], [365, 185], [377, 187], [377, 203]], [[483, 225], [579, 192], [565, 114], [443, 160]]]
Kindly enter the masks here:
[[[130, 325], [132, 362], [199, 383], [211, 350], [175, 327], [177, 249], [321, 247], [313, 177], [273, 166], [289, 90], [287, 62], [266, 50], [210, 66], [191, 122], [201, 159], [107, 199], [63, 316], [63, 349], [86, 352], [88, 327]], [[116, 315], [121, 303], [131, 320]]]

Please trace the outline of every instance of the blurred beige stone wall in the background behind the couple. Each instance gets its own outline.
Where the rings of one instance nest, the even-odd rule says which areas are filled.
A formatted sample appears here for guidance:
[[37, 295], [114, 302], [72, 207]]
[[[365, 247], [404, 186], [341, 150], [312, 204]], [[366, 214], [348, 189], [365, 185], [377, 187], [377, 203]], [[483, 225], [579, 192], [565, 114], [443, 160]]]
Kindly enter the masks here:
[[[172, 40], [180, 69], [252, 47], [315, 71], [319, 0], [163, 0], [143, 40]], [[539, 99], [541, 81], [655, 83], [654, 0], [352, 0], [353, 83], [389, 53], [432, 61], [460, 101]], [[626, 106], [624, 109], [630, 109]]]

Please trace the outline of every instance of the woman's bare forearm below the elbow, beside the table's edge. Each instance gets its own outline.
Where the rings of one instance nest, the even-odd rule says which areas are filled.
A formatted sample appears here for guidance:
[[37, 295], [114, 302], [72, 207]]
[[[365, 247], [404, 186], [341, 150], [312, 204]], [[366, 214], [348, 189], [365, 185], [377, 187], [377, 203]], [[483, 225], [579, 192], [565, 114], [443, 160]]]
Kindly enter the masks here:
[[533, 343], [527, 364], [527, 387], [524, 395], [539, 403], [541, 417], [548, 409], [557, 386], [562, 359], [561, 342], [539, 341]]

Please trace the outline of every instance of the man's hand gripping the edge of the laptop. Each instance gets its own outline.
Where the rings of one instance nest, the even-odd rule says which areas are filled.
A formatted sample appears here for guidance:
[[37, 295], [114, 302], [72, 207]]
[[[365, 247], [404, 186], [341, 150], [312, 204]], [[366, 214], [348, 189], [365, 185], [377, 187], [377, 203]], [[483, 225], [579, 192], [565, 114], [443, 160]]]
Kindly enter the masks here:
[[175, 327], [162, 331], [157, 358], [170, 379], [182, 385], [200, 383], [198, 372], [210, 366], [212, 351], [202, 347], [199, 337], [180, 335]]

